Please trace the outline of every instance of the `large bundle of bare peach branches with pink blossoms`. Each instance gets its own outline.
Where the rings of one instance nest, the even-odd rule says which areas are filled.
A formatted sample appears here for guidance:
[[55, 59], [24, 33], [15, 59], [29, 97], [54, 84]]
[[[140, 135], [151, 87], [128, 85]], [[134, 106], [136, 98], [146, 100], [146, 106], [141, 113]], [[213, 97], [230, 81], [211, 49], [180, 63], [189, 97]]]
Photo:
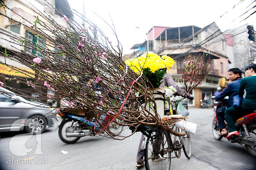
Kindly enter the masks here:
[[[3, 50], [5, 59], [1, 64], [7, 65], [17, 73], [26, 74], [29, 79], [15, 78], [20, 83], [34, 88], [39, 92], [38, 96], [32, 97], [26, 95], [26, 91], [12, 89], [19, 91], [18, 95], [31, 100], [61, 101], [60, 103], [64, 105], [59, 107], [80, 109], [84, 111], [85, 117], [96, 120], [110, 114], [121, 119], [122, 121], [116, 123], [123, 126], [137, 128], [143, 124], [162, 126], [166, 129], [167, 125], [163, 124], [157, 114], [154, 97], [146, 91], [147, 85], [141, 79], [143, 75], [136, 74], [122, 61], [122, 45], [117, 39], [114, 27], [108, 25], [116, 37], [116, 46], [112, 45], [111, 40], [108, 40], [98, 26], [85, 17], [81, 18], [88, 23], [88, 28], [80, 26], [60, 11], [56, 13], [57, 10], [49, 4], [46, 5], [63, 23], [66, 23], [67, 27], [64, 28], [63, 24], [59, 24], [56, 19], [53, 20], [50, 13], [34, 11], [35, 21], [32, 23], [6, 7], [16, 17], [20, 17], [19, 20], [23, 23], [26, 21], [26, 27], [37, 35], [32, 38], [26, 34], [24, 37], [17, 37], [18, 40], [9, 40], [26, 50]], [[6, 17], [10, 18], [7, 15]], [[47, 41], [44, 42], [41, 37]], [[32, 71], [9, 65], [6, 62], [9, 59], [26, 65]], [[47, 90], [54, 94], [47, 95]], [[152, 113], [152, 110], [148, 111], [144, 107], [146, 104], [140, 103], [142, 99], [145, 103], [153, 103], [150, 106], [154, 107], [152, 109], [155, 113]], [[102, 134], [108, 135], [108, 132]]]

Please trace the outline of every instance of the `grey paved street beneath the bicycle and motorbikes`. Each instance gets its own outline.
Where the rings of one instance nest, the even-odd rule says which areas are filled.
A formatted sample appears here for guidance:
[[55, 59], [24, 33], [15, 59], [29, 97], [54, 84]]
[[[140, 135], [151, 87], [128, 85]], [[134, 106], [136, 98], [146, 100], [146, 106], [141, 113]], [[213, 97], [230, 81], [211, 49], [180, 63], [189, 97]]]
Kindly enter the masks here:
[[[255, 170], [256, 158], [250, 156], [245, 147], [232, 144], [227, 139], [217, 141], [213, 138], [212, 110], [189, 108], [192, 122], [198, 124], [197, 133], [192, 136], [192, 157], [187, 159], [182, 152], [179, 159], [172, 159], [171, 169]], [[65, 144], [59, 139], [55, 128], [48, 128], [38, 139], [35, 135], [24, 136], [17, 132], [2, 133], [2, 169], [60, 170], [68, 167], [70, 170], [145, 170], [145, 167], [135, 167], [140, 133], [121, 141], [86, 136], [75, 144]], [[126, 130], [122, 134], [128, 136], [131, 131]], [[25, 148], [29, 154], [19, 156]], [[61, 153], [62, 150], [67, 151], [67, 154]]]

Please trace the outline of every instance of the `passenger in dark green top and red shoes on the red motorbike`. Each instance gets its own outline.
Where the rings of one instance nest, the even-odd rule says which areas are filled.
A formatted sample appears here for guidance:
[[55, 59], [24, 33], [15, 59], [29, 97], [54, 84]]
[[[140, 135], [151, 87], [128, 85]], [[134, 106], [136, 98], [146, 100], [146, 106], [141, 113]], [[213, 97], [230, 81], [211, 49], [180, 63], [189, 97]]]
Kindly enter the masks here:
[[229, 134], [226, 138], [230, 138], [233, 135], [239, 135], [236, 130], [235, 121], [241, 116], [252, 113], [256, 110], [256, 64], [250, 64], [245, 68], [245, 77], [241, 79], [238, 95], [242, 98], [242, 103], [239, 108], [233, 106], [227, 108], [225, 116], [227, 119], [227, 125]]

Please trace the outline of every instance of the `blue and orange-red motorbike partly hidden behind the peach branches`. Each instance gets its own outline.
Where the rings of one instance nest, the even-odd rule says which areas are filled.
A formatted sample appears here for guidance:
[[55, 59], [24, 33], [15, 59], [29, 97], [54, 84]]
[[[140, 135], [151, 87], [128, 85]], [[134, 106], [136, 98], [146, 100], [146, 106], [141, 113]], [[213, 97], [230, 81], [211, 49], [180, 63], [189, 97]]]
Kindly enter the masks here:
[[[58, 121], [58, 135], [62, 142], [73, 144], [83, 136], [99, 136], [96, 135], [95, 131], [100, 132], [101, 129], [96, 124], [95, 119], [86, 119], [84, 116], [76, 114], [77, 111], [72, 113], [72, 110], [65, 111], [61, 109], [58, 112], [58, 115], [61, 116]], [[103, 127], [109, 124], [107, 127], [108, 134], [118, 136], [123, 130], [121, 120], [116, 118], [111, 122], [112, 119], [111, 116], [106, 116], [100, 123]], [[101, 133], [104, 133], [104, 130]]]

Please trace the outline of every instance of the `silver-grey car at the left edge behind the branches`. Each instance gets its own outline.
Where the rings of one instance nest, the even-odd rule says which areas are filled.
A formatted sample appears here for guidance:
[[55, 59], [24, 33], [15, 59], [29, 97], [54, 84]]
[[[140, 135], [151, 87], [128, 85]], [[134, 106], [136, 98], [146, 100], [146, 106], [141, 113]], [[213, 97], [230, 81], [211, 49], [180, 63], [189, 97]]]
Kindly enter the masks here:
[[40, 102], [32, 102], [12, 91], [0, 88], [0, 132], [25, 130], [43, 133], [54, 126], [55, 109]]

